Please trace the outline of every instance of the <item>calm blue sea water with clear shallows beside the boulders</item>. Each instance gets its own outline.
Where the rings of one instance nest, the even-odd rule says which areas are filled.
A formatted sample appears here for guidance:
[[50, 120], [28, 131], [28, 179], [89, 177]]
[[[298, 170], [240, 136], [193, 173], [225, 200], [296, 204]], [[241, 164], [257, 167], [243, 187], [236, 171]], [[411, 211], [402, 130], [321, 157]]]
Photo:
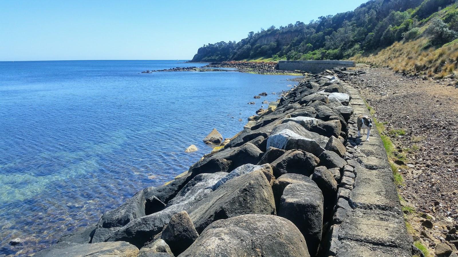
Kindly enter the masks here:
[[[294, 84], [234, 71], [140, 73], [202, 65], [0, 62], [0, 256], [38, 251], [169, 181], [211, 150], [202, 139], [213, 128], [232, 137], [277, 99], [271, 92]], [[185, 153], [191, 144], [199, 150]], [[16, 237], [25, 243], [10, 246]]]

